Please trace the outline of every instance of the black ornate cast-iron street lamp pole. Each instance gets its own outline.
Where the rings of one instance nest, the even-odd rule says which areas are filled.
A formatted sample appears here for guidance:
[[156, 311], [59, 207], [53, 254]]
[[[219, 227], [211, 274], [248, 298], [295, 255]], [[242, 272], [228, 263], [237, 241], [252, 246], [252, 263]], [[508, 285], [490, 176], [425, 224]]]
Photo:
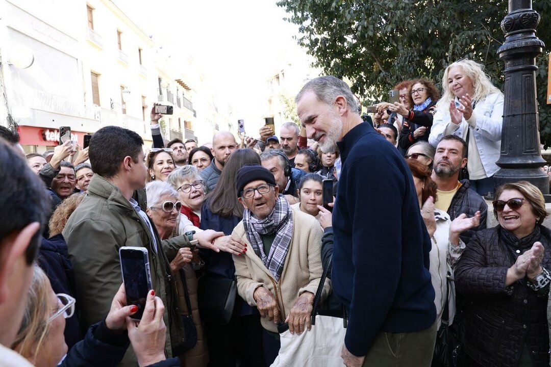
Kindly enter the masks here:
[[496, 187], [527, 180], [548, 195], [549, 178], [540, 169], [545, 160], [539, 147], [536, 95], [536, 57], [545, 47], [536, 36], [539, 19], [532, 0], [509, 0], [509, 14], [501, 21], [505, 42], [498, 55], [505, 62], [505, 105], [501, 156], [496, 162], [500, 169], [494, 178]]

